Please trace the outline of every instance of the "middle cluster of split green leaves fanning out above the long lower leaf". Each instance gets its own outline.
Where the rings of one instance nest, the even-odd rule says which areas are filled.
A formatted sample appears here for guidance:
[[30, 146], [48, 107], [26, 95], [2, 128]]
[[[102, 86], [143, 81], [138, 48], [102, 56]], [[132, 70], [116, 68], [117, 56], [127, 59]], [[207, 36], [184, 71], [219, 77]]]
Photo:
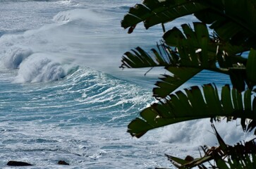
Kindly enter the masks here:
[[[228, 75], [232, 75], [234, 71], [245, 72], [247, 59], [236, 55], [241, 49], [234, 48], [228, 43], [221, 44], [209, 37], [205, 24], [194, 23], [194, 30], [190, 25], [184, 24], [182, 30], [183, 32], [174, 27], [167, 31], [164, 34], [164, 42], [168, 45], [162, 43], [158, 46], [159, 50], [152, 49], [151, 54], [140, 47], [126, 52], [123, 55], [121, 68], [164, 66], [170, 74], [162, 75], [156, 83], [157, 87], [154, 87], [153, 95], [157, 98], [165, 98], [204, 69]], [[218, 68], [217, 62], [223, 68]], [[236, 65], [244, 66], [236, 69], [238, 67]], [[232, 80], [240, 91], [245, 89], [244, 80], [241, 82]]]

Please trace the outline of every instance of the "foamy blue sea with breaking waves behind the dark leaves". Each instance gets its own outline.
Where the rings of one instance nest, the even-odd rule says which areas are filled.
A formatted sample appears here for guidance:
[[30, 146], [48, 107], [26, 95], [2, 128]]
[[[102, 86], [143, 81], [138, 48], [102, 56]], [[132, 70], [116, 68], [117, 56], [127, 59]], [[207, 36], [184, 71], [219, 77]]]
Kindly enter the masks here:
[[[199, 156], [199, 146], [217, 145], [209, 120], [140, 139], [126, 132], [154, 103], [152, 87], [165, 73], [118, 68], [126, 51], [151, 49], [161, 39], [159, 25], [138, 25], [131, 35], [121, 28], [139, 2], [0, 0], [0, 168], [11, 160], [33, 164], [26, 168], [63, 168], [60, 160], [70, 164], [65, 168], [173, 168], [164, 154]], [[204, 71], [181, 89], [209, 82], [230, 80]], [[238, 124], [217, 124], [228, 144], [248, 139]]]

